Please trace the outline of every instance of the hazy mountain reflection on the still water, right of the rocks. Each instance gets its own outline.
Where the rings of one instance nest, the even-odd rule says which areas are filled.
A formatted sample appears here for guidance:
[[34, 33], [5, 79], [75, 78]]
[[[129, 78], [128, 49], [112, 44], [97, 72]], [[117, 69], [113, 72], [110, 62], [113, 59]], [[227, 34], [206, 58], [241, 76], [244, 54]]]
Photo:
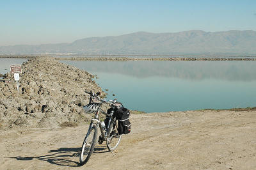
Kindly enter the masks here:
[[228, 81], [256, 80], [256, 61], [61, 61], [88, 72], [108, 72], [135, 77], [178, 77]]

